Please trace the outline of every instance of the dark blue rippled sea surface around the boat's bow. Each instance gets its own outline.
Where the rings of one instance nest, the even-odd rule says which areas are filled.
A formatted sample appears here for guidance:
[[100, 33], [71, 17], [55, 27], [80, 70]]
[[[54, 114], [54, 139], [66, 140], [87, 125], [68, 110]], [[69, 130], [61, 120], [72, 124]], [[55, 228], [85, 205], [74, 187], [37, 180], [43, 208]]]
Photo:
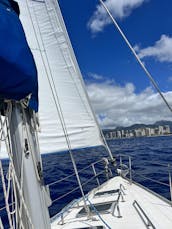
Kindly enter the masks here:
[[[124, 154], [132, 157], [133, 179], [158, 194], [170, 199], [169, 187], [167, 185], [157, 184], [152, 180], [160, 181], [168, 184], [168, 164], [172, 165], [172, 136], [149, 137], [149, 138], [131, 138], [131, 139], [115, 139], [108, 141], [108, 145], [113, 155]], [[94, 149], [82, 149], [73, 152], [78, 170], [88, 166], [102, 157], [108, 156], [103, 147]], [[45, 183], [59, 181], [60, 179], [71, 175], [73, 166], [68, 153], [54, 153], [42, 156]], [[124, 161], [127, 164], [127, 160]], [[8, 161], [3, 160], [4, 170], [7, 170]], [[96, 172], [100, 172], [103, 164], [95, 166]], [[112, 168], [112, 172], [115, 171]], [[172, 172], [172, 171], [171, 171]], [[93, 176], [90, 168], [80, 172], [81, 182], [86, 182]], [[146, 179], [148, 177], [149, 179]], [[100, 182], [105, 181], [105, 175], [100, 176]], [[151, 179], [151, 180], [150, 180]], [[93, 187], [96, 187], [96, 179], [84, 185], [84, 192], [87, 193]], [[50, 185], [50, 194], [52, 200], [56, 200], [61, 195], [70, 192], [77, 187], [75, 176], [70, 177], [66, 181], [58, 184]], [[68, 196], [55, 201], [49, 208], [50, 216], [59, 212], [67, 203], [80, 197], [80, 191], [76, 190]], [[0, 208], [4, 205], [2, 185], [0, 183]], [[2, 221], [5, 223], [7, 218], [5, 211], [0, 211]], [[7, 224], [6, 227], [8, 228]]]

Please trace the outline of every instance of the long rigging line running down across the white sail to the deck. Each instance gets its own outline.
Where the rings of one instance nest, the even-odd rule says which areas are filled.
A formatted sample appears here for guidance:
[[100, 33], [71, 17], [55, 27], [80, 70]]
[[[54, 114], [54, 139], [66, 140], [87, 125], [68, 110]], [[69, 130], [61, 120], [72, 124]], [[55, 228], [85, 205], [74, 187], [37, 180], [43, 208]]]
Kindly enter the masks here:
[[[27, 4], [27, 7], [28, 7], [28, 12], [29, 12], [29, 16], [30, 16], [30, 19], [31, 19], [31, 22], [32, 22], [32, 26], [33, 26], [33, 29], [34, 29], [34, 32], [35, 32], [35, 37], [36, 37], [38, 46], [40, 47], [39, 40], [38, 40], [38, 37], [37, 37], [37, 34], [36, 34], [36, 30], [35, 30], [35, 27], [34, 27], [32, 15], [31, 15], [31, 12], [30, 12], [28, 0], [26, 0], [26, 4]], [[32, 2], [32, 6], [33, 6], [33, 13], [35, 14], [33, 2]], [[39, 22], [37, 20], [36, 14], [35, 14], [35, 18], [36, 18], [36, 21], [37, 21], [37, 24], [38, 24], [38, 30], [39, 30], [39, 33], [40, 33], [42, 45], [44, 46], [44, 42], [43, 42], [43, 39], [42, 39], [42, 36], [41, 36], [41, 30], [40, 30], [40, 27], [39, 27]], [[42, 53], [41, 53], [41, 57], [42, 57], [42, 61], [44, 63], [44, 58], [43, 58]], [[71, 148], [71, 145], [70, 145], [70, 139], [69, 139], [69, 136], [68, 136], [68, 133], [67, 133], [65, 120], [64, 120], [64, 117], [63, 117], [63, 114], [62, 114], [62, 109], [61, 109], [61, 106], [60, 106], [60, 103], [59, 103], [59, 98], [58, 98], [58, 94], [57, 94], [57, 91], [56, 91], [56, 87], [54, 85], [54, 81], [53, 81], [53, 77], [52, 77], [52, 71], [51, 71], [51, 68], [50, 68], [50, 64], [49, 64], [49, 61], [48, 61], [48, 57], [47, 57], [46, 51], [45, 51], [45, 57], [46, 57], [46, 61], [47, 61], [47, 64], [48, 64], [49, 71], [50, 71], [51, 80], [53, 82], [53, 87], [54, 87], [55, 94], [54, 94], [53, 87], [52, 87], [50, 79], [49, 79], [49, 75], [48, 75], [47, 69], [45, 69], [46, 75], [47, 75], [48, 82], [49, 82], [49, 85], [50, 85], [50, 88], [51, 88], [51, 91], [52, 91], [52, 95], [53, 95], [53, 99], [54, 99], [54, 102], [55, 102], [55, 105], [56, 105], [56, 109], [57, 109], [57, 112], [59, 114], [59, 118], [60, 118], [60, 121], [61, 121], [61, 124], [62, 124], [62, 128], [63, 128], [64, 134], [65, 134], [66, 143], [67, 143], [67, 146], [68, 146], [68, 150], [69, 150], [69, 153], [70, 153], [70, 157], [71, 157], [71, 160], [72, 160], [74, 171], [76, 173], [76, 178], [77, 178], [77, 181], [78, 181], [78, 185], [80, 187], [80, 191], [81, 191], [81, 194], [82, 194], [82, 197], [83, 197], [84, 207], [85, 207], [85, 210], [88, 212], [88, 215], [89, 215], [89, 208], [87, 207], [87, 204], [86, 204], [85, 194], [84, 194], [84, 191], [83, 191], [83, 188], [82, 188], [82, 184], [81, 184], [81, 181], [80, 181], [80, 177], [79, 177], [79, 174], [78, 174], [76, 163], [75, 163], [75, 160], [74, 160], [74, 157], [73, 157], [73, 154], [72, 154], [72, 148]], [[57, 101], [56, 101], [56, 99], [57, 99]]]

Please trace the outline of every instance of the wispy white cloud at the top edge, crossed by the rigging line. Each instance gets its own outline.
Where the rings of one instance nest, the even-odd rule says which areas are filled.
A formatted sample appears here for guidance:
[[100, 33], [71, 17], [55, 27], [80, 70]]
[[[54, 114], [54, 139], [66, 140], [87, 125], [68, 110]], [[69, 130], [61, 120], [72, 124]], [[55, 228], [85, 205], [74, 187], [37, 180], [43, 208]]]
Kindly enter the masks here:
[[[106, 0], [104, 2], [115, 18], [122, 19], [130, 15], [132, 10], [139, 7], [145, 1], [147, 0]], [[110, 23], [109, 16], [103, 6], [99, 4], [88, 22], [88, 28], [93, 33], [97, 33]]]

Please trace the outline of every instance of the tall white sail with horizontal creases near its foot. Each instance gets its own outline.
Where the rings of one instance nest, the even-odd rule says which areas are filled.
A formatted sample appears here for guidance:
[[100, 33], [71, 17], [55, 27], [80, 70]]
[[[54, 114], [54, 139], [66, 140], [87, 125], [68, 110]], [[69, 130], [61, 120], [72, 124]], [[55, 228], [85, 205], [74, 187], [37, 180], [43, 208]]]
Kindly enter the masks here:
[[102, 145], [57, 0], [18, 3], [38, 69], [41, 152]]

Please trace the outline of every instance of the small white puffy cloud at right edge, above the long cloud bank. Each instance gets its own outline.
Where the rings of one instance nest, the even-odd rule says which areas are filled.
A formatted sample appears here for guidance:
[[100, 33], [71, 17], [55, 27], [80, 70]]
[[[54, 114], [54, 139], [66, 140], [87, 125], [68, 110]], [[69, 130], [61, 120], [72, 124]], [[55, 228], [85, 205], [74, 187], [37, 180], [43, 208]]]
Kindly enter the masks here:
[[136, 45], [135, 50], [141, 59], [154, 57], [160, 62], [172, 62], [172, 37], [162, 35], [153, 46], [141, 49]]

